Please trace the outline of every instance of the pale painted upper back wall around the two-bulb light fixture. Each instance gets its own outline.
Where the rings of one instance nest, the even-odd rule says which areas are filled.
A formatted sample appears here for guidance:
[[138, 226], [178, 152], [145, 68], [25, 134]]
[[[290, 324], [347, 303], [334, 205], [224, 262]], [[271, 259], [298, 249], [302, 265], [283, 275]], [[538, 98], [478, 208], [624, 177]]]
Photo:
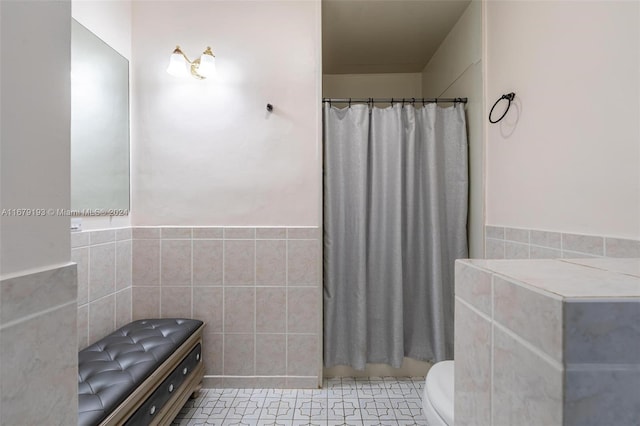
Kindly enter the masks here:
[[[319, 28], [317, 1], [134, 2], [135, 225], [320, 224]], [[217, 78], [167, 74], [176, 44]]]

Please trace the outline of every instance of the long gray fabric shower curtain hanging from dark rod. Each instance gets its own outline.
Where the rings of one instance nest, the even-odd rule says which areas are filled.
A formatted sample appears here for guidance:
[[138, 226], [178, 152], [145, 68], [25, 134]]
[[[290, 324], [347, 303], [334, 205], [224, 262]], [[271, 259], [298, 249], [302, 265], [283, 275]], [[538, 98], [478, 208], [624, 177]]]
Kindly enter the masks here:
[[324, 108], [324, 363], [453, 355], [467, 257], [464, 107]]

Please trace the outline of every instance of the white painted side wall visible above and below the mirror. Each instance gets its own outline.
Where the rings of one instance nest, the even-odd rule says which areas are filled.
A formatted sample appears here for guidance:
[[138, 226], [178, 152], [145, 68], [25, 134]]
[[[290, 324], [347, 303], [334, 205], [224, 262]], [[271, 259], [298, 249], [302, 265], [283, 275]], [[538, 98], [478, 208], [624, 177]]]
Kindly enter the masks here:
[[[71, 16], [127, 58], [130, 62], [129, 73], [131, 73], [131, 5], [132, 0], [71, 0]], [[131, 99], [132, 86], [133, 81], [129, 76], [129, 99]], [[131, 226], [130, 214], [127, 216], [84, 216], [79, 220], [84, 230]]]

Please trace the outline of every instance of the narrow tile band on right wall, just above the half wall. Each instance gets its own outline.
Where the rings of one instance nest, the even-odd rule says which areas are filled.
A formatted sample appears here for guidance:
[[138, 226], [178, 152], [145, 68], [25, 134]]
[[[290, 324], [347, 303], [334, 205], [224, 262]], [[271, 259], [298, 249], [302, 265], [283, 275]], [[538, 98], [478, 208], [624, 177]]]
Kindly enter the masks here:
[[487, 259], [640, 257], [640, 241], [536, 229], [485, 227]]

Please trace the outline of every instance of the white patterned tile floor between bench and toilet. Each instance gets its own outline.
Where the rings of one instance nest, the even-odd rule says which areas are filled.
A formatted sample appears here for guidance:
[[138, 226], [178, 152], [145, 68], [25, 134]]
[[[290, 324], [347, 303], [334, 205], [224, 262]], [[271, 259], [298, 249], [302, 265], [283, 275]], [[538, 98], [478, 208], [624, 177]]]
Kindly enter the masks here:
[[423, 385], [423, 377], [343, 377], [322, 389], [203, 389], [173, 425], [426, 426]]

